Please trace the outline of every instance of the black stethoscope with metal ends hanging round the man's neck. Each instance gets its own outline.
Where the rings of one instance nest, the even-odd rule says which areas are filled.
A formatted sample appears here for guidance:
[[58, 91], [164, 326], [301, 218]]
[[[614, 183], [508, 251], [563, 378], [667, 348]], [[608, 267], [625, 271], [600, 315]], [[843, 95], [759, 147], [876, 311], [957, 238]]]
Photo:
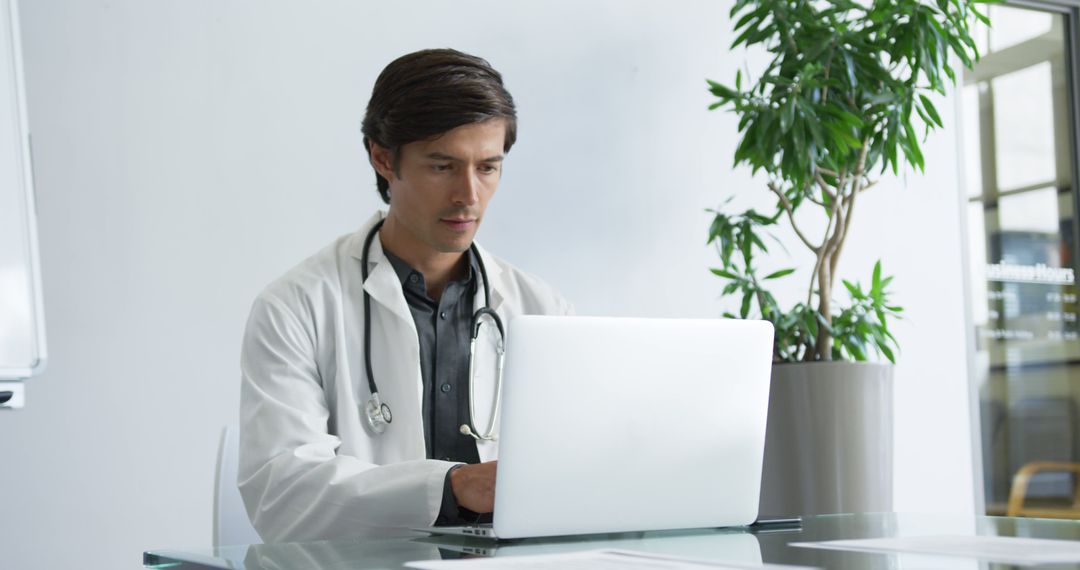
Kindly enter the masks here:
[[[386, 219], [381, 219], [376, 222], [372, 231], [367, 233], [367, 239], [364, 240], [364, 255], [362, 256], [361, 263], [361, 274], [364, 279], [364, 283], [367, 283], [367, 254], [372, 248], [372, 242], [375, 240], [375, 235], [379, 233], [379, 228], [382, 227], [382, 222]], [[478, 309], [472, 316], [472, 340], [469, 341], [469, 423], [462, 423], [461, 428], [458, 429], [463, 435], [473, 437], [474, 439], [484, 439], [488, 442], [495, 442], [497, 436], [495, 435], [495, 423], [499, 418], [499, 405], [502, 402], [502, 362], [503, 355], [505, 354], [505, 340], [507, 332], [502, 328], [502, 320], [499, 315], [491, 309], [491, 291], [488, 289], [487, 285], [487, 269], [484, 267], [484, 259], [480, 256], [480, 250], [476, 249], [476, 244], [469, 246], [472, 250], [473, 256], [476, 258], [476, 264], [480, 266], [481, 279], [484, 282], [484, 307]], [[496, 328], [499, 329], [499, 342], [496, 344], [496, 376], [495, 376], [495, 412], [491, 413], [491, 420], [487, 424], [487, 431], [483, 434], [476, 430], [476, 408], [475, 398], [473, 397], [473, 386], [475, 382], [473, 381], [473, 375], [475, 372], [476, 365], [476, 339], [480, 337], [480, 327], [483, 324], [484, 316], [490, 318]], [[379, 389], [375, 385], [375, 374], [372, 372], [372, 296], [368, 295], [367, 289], [364, 289], [364, 368], [367, 371], [367, 388], [372, 392], [370, 399], [367, 401], [367, 405], [364, 406], [364, 416], [367, 419], [367, 425], [376, 434], [381, 434], [387, 430], [387, 426], [393, 421], [393, 413], [390, 412], [390, 406], [379, 399]]]

